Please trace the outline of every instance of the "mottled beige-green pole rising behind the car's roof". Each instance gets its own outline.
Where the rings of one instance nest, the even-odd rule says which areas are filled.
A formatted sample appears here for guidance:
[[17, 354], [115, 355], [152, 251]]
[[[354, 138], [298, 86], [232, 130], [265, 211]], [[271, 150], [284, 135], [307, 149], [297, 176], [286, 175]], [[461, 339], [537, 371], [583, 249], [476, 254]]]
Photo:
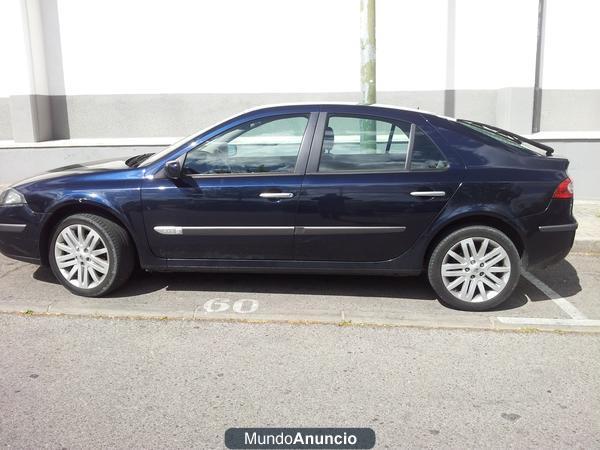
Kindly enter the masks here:
[[360, 90], [366, 105], [377, 101], [375, 50], [375, 0], [360, 0]]

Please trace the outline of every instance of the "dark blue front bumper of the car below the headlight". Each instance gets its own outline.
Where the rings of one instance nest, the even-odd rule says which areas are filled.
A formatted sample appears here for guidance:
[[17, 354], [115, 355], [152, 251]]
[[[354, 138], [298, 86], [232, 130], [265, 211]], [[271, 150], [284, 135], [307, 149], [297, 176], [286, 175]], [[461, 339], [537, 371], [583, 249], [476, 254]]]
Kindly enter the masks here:
[[44, 214], [27, 205], [0, 206], [0, 253], [40, 264], [40, 231]]

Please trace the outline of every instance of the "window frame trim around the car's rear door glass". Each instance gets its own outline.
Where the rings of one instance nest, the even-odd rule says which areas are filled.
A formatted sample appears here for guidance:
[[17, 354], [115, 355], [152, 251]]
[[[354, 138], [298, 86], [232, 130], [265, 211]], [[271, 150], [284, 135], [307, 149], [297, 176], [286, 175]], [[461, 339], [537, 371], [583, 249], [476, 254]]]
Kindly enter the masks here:
[[[328, 172], [319, 172], [319, 164], [321, 163], [322, 156], [322, 148], [323, 148], [323, 138], [325, 134], [325, 128], [327, 127], [327, 120], [330, 116], [335, 117], [351, 117], [355, 119], [365, 119], [370, 118], [372, 120], [379, 120], [381, 122], [387, 122], [392, 126], [396, 126], [397, 122], [404, 122], [410, 124], [410, 133], [408, 137], [408, 148], [406, 153], [406, 161], [404, 162], [403, 169], [374, 169], [374, 170], [336, 170], [336, 171], [328, 171]], [[399, 128], [399, 127], [398, 127]], [[443, 169], [411, 169], [410, 164], [412, 162], [412, 153], [414, 149], [415, 136], [417, 133], [417, 129], [420, 130], [426, 137], [431, 141], [433, 145], [438, 149], [440, 154], [444, 157], [446, 162], [448, 163], [446, 167]], [[428, 172], [446, 172], [450, 169], [451, 164], [448, 156], [440, 149], [439, 145], [429, 137], [421, 127], [417, 127], [417, 124], [411, 121], [403, 120], [403, 119], [395, 119], [392, 117], [384, 117], [374, 114], [356, 114], [356, 113], [345, 113], [345, 112], [320, 112], [319, 118], [317, 120], [317, 124], [314, 130], [314, 136], [312, 139], [312, 145], [310, 149], [310, 156], [308, 158], [308, 164], [306, 166], [306, 175], [350, 175], [350, 174], [391, 174], [391, 173], [408, 173], [408, 172], [417, 172], [417, 173], [428, 173]]]

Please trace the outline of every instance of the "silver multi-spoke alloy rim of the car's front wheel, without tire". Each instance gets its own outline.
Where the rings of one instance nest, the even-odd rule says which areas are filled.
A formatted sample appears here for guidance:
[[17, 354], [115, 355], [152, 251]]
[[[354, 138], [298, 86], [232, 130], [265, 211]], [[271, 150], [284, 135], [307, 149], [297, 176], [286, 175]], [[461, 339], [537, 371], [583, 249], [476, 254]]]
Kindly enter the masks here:
[[54, 258], [65, 280], [80, 289], [98, 286], [110, 267], [105, 242], [95, 230], [81, 224], [69, 225], [60, 232]]

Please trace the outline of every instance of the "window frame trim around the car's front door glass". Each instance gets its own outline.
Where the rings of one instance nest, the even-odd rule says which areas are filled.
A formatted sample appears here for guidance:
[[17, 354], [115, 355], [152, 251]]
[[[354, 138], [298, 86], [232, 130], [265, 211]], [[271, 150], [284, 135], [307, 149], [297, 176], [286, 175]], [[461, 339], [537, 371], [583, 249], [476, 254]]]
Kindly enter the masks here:
[[306, 116], [308, 121], [306, 123], [306, 128], [304, 129], [304, 134], [302, 135], [302, 140], [300, 141], [300, 148], [298, 149], [298, 157], [296, 158], [296, 165], [294, 166], [294, 170], [291, 172], [248, 172], [248, 173], [196, 173], [196, 174], [184, 174], [183, 176], [186, 178], [198, 179], [198, 178], [240, 178], [240, 177], [284, 177], [284, 176], [299, 176], [304, 175], [306, 170], [306, 164], [308, 161], [311, 144], [313, 141], [313, 137], [315, 134], [315, 125], [318, 120], [319, 113], [318, 112], [298, 112], [298, 113], [286, 113], [286, 114], [274, 114], [272, 116], [260, 117], [258, 119], [250, 119], [245, 122], [238, 123], [233, 125], [226, 130], [223, 130], [221, 133], [212, 136], [211, 138], [203, 141], [198, 144], [196, 147], [188, 150], [183, 153], [183, 161], [182, 161], [182, 173], [185, 164], [185, 160], [187, 158], [188, 153], [194, 151], [199, 146], [204, 145], [208, 141], [219, 138], [228, 132], [230, 132], [233, 128], [243, 126], [250, 122], [255, 122], [256, 120], [261, 119], [271, 119], [271, 120], [280, 120], [288, 117], [303, 117]]

